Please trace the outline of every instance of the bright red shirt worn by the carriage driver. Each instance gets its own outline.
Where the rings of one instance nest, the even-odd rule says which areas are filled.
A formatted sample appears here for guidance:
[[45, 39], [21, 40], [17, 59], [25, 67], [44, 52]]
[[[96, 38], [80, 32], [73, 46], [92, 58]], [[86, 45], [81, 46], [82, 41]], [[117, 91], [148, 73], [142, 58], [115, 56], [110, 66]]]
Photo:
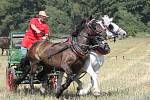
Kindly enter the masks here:
[[[35, 25], [41, 33], [37, 34], [32, 28], [31, 24]], [[29, 29], [25, 33], [25, 36], [22, 40], [22, 46], [25, 48], [30, 48], [38, 40], [42, 40], [42, 36], [48, 34], [49, 28], [46, 23], [40, 23], [38, 18], [32, 18], [29, 23]]]

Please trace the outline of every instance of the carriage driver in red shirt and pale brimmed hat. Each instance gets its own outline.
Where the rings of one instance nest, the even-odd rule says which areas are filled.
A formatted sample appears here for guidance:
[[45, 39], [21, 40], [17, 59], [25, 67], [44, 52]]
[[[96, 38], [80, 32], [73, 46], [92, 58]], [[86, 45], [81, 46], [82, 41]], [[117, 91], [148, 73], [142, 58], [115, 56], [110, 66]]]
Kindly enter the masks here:
[[35, 42], [48, 37], [49, 27], [46, 23], [47, 17], [45, 11], [39, 11], [38, 17], [31, 18], [29, 21], [29, 28], [21, 43], [21, 53], [23, 56], [26, 55], [27, 49], [29, 49]]

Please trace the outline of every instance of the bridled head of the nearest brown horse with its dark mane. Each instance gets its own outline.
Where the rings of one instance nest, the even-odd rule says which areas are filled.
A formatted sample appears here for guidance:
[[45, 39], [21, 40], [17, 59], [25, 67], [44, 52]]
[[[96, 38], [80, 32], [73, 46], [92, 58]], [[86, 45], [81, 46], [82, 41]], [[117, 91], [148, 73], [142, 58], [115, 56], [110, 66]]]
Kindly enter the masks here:
[[76, 27], [76, 31], [72, 33], [73, 36], [78, 38], [80, 43], [87, 43], [90, 37], [101, 36], [106, 39], [106, 29], [99, 21], [90, 18], [83, 19]]

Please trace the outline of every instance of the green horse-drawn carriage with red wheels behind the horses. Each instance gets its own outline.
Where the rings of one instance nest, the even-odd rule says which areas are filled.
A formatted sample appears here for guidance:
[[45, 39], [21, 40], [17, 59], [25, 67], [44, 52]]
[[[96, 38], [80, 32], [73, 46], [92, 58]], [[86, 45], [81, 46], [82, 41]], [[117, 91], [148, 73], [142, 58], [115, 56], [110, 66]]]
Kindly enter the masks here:
[[[22, 59], [21, 54], [21, 41], [24, 37], [23, 32], [12, 32], [10, 33], [10, 46], [8, 52], [8, 66], [6, 68], [6, 85], [9, 91], [15, 91], [19, 84], [29, 84], [30, 78], [27, 75], [21, 83], [17, 83], [16, 80], [21, 79], [24, 76], [24, 68], [20, 66], [20, 61]], [[42, 70], [42, 66], [38, 67], [38, 71]], [[56, 88], [57, 76], [59, 71], [55, 68], [48, 74], [49, 86], [52, 89]], [[34, 84], [40, 84], [40, 81], [35, 77]]]

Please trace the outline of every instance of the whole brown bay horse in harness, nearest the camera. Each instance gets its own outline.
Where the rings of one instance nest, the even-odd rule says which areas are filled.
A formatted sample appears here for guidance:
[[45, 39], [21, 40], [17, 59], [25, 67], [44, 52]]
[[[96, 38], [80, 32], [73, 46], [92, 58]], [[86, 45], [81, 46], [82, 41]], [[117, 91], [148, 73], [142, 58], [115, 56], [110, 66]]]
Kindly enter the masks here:
[[[82, 30], [82, 32], [79, 32]], [[63, 91], [68, 88], [70, 83], [77, 77], [82, 66], [71, 67], [73, 64], [82, 64], [88, 54], [88, 37], [101, 32], [95, 20], [81, 21], [79, 28], [72, 34], [74, 37], [71, 44], [52, 43], [49, 41], [38, 41], [28, 50], [27, 58], [30, 61], [30, 86], [34, 93], [33, 79], [38, 65], [43, 69], [50, 71], [51, 66], [61, 69], [67, 74], [67, 79], [56, 92], [59, 98]], [[48, 73], [48, 72], [47, 72]]]

